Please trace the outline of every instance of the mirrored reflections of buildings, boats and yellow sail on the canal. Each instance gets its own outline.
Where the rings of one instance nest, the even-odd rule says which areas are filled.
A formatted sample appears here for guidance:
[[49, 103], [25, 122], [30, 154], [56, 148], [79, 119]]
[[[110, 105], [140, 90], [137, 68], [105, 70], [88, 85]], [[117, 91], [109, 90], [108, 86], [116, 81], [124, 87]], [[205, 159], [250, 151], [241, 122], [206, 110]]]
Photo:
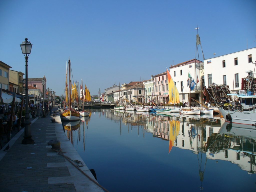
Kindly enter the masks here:
[[[119, 123], [121, 136], [122, 127], [127, 127], [128, 133], [136, 130], [138, 136], [142, 135], [143, 138], [145, 133], [151, 133], [156, 139], [168, 141], [169, 147], [166, 153], [171, 153], [173, 147], [191, 150], [198, 158], [201, 182], [204, 180], [207, 159], [213, 159], [216, 163], [219, 160], [230, 161], [248, 174], [256, 172], [256, 129], [251, 127], [234, 127], [232, 124], [225, 123], [223, 118], [216, 118], [213, 115], [165, 115], [113, 109], [96, 109], [91, 110], [91, 113]], [[79, 137], [77, 139], [80, 139], [80, 131], [88, 129], [89, 121], [90, 118], [76, 125], [64, 126], [71, 143], [75, 139], [72, 138], [72, 131], [77, 131]], [[83, 139], [84, 137], [83, 132]]]

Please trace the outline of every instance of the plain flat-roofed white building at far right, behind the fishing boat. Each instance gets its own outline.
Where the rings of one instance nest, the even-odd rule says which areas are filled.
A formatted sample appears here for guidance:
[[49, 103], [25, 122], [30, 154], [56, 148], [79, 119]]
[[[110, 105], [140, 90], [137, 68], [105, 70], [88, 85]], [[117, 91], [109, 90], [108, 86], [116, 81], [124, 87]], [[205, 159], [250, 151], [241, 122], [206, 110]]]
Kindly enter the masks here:
[[216, 83], [234, 92], [243, 89], [242, 79], [248, 76], [246, 72], [254, 72], [255, 60], [256, 48], [204, 60], [205, 86]]

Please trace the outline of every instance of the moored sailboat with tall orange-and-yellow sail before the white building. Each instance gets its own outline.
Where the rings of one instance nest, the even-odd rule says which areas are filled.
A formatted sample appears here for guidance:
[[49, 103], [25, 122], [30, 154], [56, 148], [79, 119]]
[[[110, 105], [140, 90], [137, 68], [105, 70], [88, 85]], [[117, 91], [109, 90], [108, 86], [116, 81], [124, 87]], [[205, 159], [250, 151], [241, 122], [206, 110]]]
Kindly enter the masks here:
[[179, 112], [181, 108], [176, 108], [175, 103], [179, 102], [179, 92], [173, 81], [168, 69], [167, 69], [167, 77], [168, 77], [168, 88], [169, 88], [169, 101], [168, 103], [174, 103], [174, 109], [156, 109], [157, 113], [175, 113]]

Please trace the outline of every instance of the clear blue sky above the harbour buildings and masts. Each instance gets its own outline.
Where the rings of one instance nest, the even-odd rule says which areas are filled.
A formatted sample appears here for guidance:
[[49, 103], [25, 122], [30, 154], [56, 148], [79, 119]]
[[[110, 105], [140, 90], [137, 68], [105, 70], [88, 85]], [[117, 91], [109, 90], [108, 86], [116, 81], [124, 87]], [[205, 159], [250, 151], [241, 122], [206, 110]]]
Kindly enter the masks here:
[[19, 45], [28, 38], [29, 78], [45, 75], [61, 95], [70, 57], [74, 81], [97, 95], [194, 59], [197, 24], [205, 59], [244, 50], [247, 39], [256, 47], [255, 8], [255, 0], [1, 0], [0, 60], [25, 73]]

